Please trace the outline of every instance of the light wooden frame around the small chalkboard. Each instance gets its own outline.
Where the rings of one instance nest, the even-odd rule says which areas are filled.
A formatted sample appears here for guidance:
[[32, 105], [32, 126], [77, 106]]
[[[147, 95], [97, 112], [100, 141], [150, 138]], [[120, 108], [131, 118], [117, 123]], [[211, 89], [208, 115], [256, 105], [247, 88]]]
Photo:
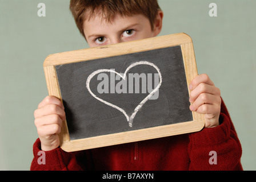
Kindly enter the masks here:
[[[190, 36], [187, 34], [179, 33], [137, 40], [133, 42], [113, 44], [110, 46], [81, 49], [77, 51], [49, 55], [46, 57], [46, 60], [43, 63], [49, 95], [55, 96], [62, 101], [55, 65], [77, 63], [80, 61], [94, 60], [104, 57], [125, 55], [134, 52], [149, 51], [152, 49], [173, 46], [181, 46], [187, 84], [189, 84], [193, 78], [198, 75], [193, 42]], [[189, 85], [187, 85], [187, 87], [188, 86]], [[59, 134], [60, 146], [63, 150], [71, 152], [199, 131], [205, 125], [204, 116], [203, 114], [198, 114], [196, 112], [192, 112], [192, 114], [193, 121], [189, 122], [77, 140], [70, 140], [69, 129], [67, 127], [67, 122], [65, 121], [63, 122], [61, 133]]]

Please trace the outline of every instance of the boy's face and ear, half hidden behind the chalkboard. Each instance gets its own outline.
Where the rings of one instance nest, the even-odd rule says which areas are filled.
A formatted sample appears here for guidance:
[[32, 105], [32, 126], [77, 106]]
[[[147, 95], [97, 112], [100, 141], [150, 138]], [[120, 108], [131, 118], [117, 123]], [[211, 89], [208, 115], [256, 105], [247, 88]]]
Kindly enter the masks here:
[[142, 14], [121, 16], [119, 14], [108, 22], [100, 14], [83, 23], [83, 32], [90, 47], [128, 42], [157, 36], [162, 28], [163, 13], [159, 10], [152, 30], [148, 18]]

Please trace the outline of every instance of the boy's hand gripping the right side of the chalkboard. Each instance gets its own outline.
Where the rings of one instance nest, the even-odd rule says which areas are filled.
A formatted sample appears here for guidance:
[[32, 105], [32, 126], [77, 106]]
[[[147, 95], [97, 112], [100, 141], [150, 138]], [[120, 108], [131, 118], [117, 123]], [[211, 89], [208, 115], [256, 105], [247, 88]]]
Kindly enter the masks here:
[[206, 74], [198, 75], [191, 81], [190, 110], [205, 114], [205, 127], [219, 125], [221, 112], [221, 91]]

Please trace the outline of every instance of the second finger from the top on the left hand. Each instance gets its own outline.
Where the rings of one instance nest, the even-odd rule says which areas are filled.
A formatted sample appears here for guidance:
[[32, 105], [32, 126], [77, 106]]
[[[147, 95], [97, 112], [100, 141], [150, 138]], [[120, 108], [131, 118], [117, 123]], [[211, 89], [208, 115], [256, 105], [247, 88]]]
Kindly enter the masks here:
[[65, 111], [55, 104], [45, 105], [34, 111], [34, 117], [39, 118], [50, 114], [57, 114], [64, 121], [66, 119]]

